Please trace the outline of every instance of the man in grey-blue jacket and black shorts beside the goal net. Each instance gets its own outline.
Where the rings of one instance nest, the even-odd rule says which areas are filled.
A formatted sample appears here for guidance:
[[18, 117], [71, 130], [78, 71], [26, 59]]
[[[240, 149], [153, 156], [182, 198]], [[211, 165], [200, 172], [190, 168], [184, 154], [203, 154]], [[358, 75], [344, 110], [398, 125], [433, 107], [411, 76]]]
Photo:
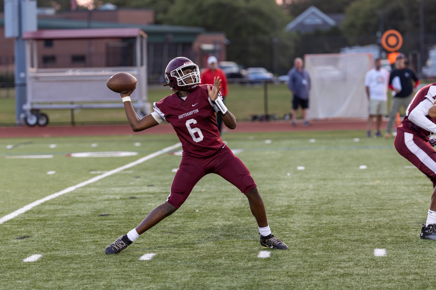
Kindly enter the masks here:
[[307, 108], [309, 107], [310, 76], [303, 68], [303, 60], [297, 57], [294, 60], [294, 67], [288, 72], [288, 87], [293, 93], [292, 100], [292, 126], [297, 125], [297, 110], [301, 106], [303, 115], [303, 126], [310, 126], [307, 120]]

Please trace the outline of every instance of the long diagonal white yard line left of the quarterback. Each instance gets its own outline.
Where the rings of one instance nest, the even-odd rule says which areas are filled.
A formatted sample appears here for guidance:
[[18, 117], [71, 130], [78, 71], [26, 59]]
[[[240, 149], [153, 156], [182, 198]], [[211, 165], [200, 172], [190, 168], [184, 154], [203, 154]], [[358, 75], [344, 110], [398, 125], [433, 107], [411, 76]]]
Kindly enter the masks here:
[[156, 156], [159, 156], [160, 154], [167, 153], [168, 151], [174, 150], [174, 149], [180, 147], [181, 145], [182, 145], [182, 143], [179, 142], [179, 143], [174, 144], [174, 145], [172, 145], [172, 146], [170, 146], [170, 147], [167, 147], [167, 148], [161, 149], [161, 150], [156, 151], [156, 152], [154, 152], [154, 153], [148, 154], [147, 156], [141, 157], [140, 159], [138, 159], [138, 160], [136, 160], [136, 161], [130, 162], [130, 163], [128, 163], [128, 164], [126, 164], [126, 165], [123, 165], [123, 166], [121, 166], [121, 167], [118, 167], [118, 168], [116, 168], [116, 169], [112, 169], [112, 170], [110, 170], [110, 171], [108, 171], [108, 172], [106, 172], [106, 173], [103, 173], [102, 175], [98, 175], [98, 176], [92, 177], [92, 178], [89, 179], [89, 180], [86, 180], [86, 181], [84, 181], [84, 182], [78, 183], [78, 184], [73, 185], [73, 186], [71, 186], [71, 187], [67, 187], [67, 188], [65, 188], [64, 190], [61, 190], [61, 191], [59, 191], [59, 192], [57, 192], [57, 193], [50, 194], [49, 196], [44, 197], [44, 198], [41, 198], [40, 200], [36, 200], [36, 201], [34, 201], [33, 203], [29, 203], [29, 204], [27, 204], [26, 206], [21, 207], [20, 209], [15, 210], [14, 212], [9, 213], [8, 215], [2, 217], [2, 218], [0, 219], [0, 224], [1, 224], [1, 223], [4, 223], [4, 222], [7, 221], [7, 220], [13, 219], [14, 217], [16, 217], [17, 215], [19, 215], [20, 213], [25, 213], [27, 210], [30, 210], [32, 207], [36, 207], [38, 204], [41, 204], [41, 203], [43, 203], [44, 201], [51, 200], [51, 199], [53, 199], [53, 198], [55, 198], [55, 197], [61, 196], [62, 194], [65, 194], [65, 193], [71, 192], [71, 191], [76, 190], [76, 189], [78, 189], [78, 188], [80, 188], [80, 187], [84, 187], [85, 185], [88, 185], [88, 184], [90, 184], [90, 183], [94, 183], [95, 181], [99, 181], [100, 179], [103, 179], [103, 178], [105, 178], [105, 177], [108, 177], [108, 176], [110, 176], [110, 175], [112, 175], [112, 174], [114, 174], [114, 173], [118, 173], [118, 172], [123, 171], [123, 170], [125, 170], [125, 169], [127, 169], [127, 168], [130, 168], [130, 167], [133, 167], [133, 166], [138, 165], [138, 164], [140, 164], [140, 163], [143, 163], [143, 162], [146, 161], [146, 160], [149, 160], [149, 159], [151, 159], [151, 158], [154, 158], [154, 157], [156, 157]]

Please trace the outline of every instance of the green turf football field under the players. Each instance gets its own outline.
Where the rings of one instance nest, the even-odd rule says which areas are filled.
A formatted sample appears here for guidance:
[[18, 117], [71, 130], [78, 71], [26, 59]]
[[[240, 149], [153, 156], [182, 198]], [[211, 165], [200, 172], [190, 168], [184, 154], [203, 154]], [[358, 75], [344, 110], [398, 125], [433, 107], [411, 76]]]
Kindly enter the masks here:
[[[431, 183], [396, 152], [393, 140], [363, 136], [225, 135], [230, 148], [244, 150], [238, 157], [258, 184], [272, 232], [290, 250], [258, 258], [266, 249], [246, 198], [210, 174], [176, 213], [122, 253], [105, 255], [106, 245], [167, 198], [181, 157], [165, 153], [0, 224], [0, 289], [433, 289], [436, 243], [419, 239]], [[1, 139], [0, 217], [97, 175], [90, 171], [111, 170], [177, 142], [173, 135]], [[11, 144], [22, 145], [5, 149]], [[115, 150], [139, 154], [65, 156]], [[4, 158], [18, 154], [54, 158]], [[30, 237], [16, 239], [24, 236]], [[375, 248], [387, 256], [375, 257]], [[138, 260], [146, 253], [156, 255]], [[22, 262], [32, 254], [43, 257]]]

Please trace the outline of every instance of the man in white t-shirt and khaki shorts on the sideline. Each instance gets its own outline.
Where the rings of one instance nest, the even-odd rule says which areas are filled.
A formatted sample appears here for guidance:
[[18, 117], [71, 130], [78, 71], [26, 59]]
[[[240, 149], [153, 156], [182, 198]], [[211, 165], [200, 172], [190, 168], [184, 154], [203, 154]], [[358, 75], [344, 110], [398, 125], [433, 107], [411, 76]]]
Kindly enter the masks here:
[[371, 137], [371, 124], [377, 117], [377, 129], [374, 136], [381, 136], [381, 117], [386, 114], [386, 102], [388, 101], [389, 71], [381, 68], [381, 59], [375, 60], [375, 68], [369, 70], [365, 76], [366, 94], [369, 99], [369, 117], [367, 137]]

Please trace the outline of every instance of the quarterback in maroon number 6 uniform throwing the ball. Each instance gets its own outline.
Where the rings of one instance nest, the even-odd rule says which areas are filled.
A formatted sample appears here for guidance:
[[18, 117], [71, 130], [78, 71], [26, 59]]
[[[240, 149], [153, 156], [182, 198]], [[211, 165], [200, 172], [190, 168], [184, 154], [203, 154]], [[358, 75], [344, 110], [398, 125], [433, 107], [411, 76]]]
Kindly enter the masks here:
[[225, 107], [219, 93], [221, 80], [199, 85], [198, 66], [186, 57], [171, 60], [165, 70], [166, 86], [175, 92], [153, 104], [154, 112], [140, 119], [129, 101], [130, 94], [121, 94], [127, 119], [133, 131], [142, 131], [167, 120], [182, 143], [183, 156], [171, 185], [167, 201], [152, 210], [133, 230], [106, 247], [106, 254], [119, 253], [140, 234], [174, 213], [187, 199], [195, 184], [206, 174], [215, 173], [238, 187], [249, 200], [250, 210], [259, 226], [260, 244], [274, 249], [288, 249], [276, 239], [268, 226], [262, 197], [244, 163], [233, 155], [219, 135], [215, 111], [224, 124], [235, 129], [236, 120]]

